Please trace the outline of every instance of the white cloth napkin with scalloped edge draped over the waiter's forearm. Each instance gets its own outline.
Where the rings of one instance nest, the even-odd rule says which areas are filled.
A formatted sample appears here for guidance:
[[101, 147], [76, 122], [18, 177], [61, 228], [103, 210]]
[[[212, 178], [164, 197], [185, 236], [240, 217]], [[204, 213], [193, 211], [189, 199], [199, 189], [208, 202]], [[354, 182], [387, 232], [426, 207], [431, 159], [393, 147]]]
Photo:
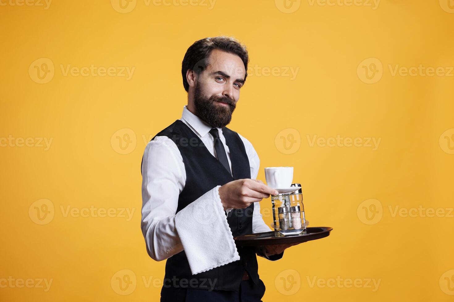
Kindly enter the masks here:
[[206, 192], [175, 216], [175, 228], [193, 275], [240, 259], [219, 187]]

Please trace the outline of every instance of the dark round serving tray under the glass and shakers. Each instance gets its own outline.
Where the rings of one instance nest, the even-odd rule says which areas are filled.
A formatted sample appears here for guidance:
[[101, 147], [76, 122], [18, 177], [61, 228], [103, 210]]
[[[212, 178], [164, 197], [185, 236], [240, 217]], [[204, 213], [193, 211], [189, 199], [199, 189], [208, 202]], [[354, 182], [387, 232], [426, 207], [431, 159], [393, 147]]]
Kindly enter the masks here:
[[328, 237], [333, 228], [328, 226], [308, 227], [307, 233], [304, 235], [292, 235], [276, 237], [274, 231], [242, 235], [233, 238], [239, 245], [244, 246], [259, 246], [285, 243], [302, 243], [306, 241], [316, 240]]

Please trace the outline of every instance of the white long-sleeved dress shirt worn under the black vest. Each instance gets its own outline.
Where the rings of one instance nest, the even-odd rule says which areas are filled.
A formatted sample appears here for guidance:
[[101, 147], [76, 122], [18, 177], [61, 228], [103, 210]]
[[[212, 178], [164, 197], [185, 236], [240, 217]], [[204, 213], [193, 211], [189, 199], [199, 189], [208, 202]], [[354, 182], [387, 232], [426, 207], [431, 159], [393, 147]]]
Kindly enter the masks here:
[[[212, 127], [197, 115], [192, 114], [186, 106], [183, 107], [181, 119], [202, 140], [208, 151], [216, 157], [214, 139], [208, 132]], [[222, 129], [219, 138], [227, 153], [229, 166], [230, 151], [226, 144]], [[260, 160], [252, 144], [238, 134], [246, 148], [251, 169], [251, 178], [256, 179]], [[145, 238], [147, 252], [154, 260], [161, 261], [183, 250], [183, 245], [175, 229], [175, 214], [178, 206], [178, 196], [186, 183], [186, 170], [183, 158], [177, 145], [167, 136], [156, 136], [145, 147], [142, 162], [142, 233]], [[216, 189], [213, 188], [212, 190]], [[218, 197], [218, 194], [216, 194]], [[193, 201], [193, 202], [197, 202]], [[221, 199], [219, 198], [219, 202]], [[227, 212], [231, 209], [227, 209]], [[183, 208], [181, 211], [185, 211]], [[226, 217], [227, 219], [227, 217]], [[268, 232], [271, 229], [265, 224], [260, 213], [259, 202], [254, 202], [252, 214], [252, 233]], [[266, 259], [271, 254], [259, 254]], [[277, 259], [276, 259], [277, 260]]]

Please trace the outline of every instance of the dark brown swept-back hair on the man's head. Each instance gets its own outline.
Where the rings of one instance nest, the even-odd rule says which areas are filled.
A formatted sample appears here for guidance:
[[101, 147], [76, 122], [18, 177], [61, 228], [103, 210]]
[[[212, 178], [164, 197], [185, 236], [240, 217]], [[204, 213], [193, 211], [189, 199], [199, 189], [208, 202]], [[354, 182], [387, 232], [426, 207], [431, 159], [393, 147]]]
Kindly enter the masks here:
[[183, 76], [183, 86], [186, 91], [189, 90], [189, 84], [186, 80], [186, 72], [188, 69], [193, 70], [197, 74], [200, 74], [207, 67], [207, 60], [213, 49], [219, 49], [227, 53], [236, 54], [244, 63], [246, 75], [244, 80], [247, 78], [247, 63], [249, 62], [249, 55], [247, 53], [246, 46], [241, 44], [237, 39], [232, 37], [214, 37], [204, 38], [198, 40], [192, 44], [186, 54], [184, 55], [183, 62], [181, 64], [181, 74]]

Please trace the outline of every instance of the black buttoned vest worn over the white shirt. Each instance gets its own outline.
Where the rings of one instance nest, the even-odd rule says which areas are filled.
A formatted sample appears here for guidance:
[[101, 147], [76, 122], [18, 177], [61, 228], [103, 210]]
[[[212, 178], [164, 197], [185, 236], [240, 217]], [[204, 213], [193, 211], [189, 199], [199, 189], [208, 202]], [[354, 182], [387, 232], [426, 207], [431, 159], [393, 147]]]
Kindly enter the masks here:
[[[222, 134], [230, 150], [233, 177], [222, 163], [208, 151], [197, 134], [183, 121], [176, 120], [172, 125], [155, 135], [155, 137], [167, 136], [172, 139], [183, 157], [186, 184], [178, 197], [177, 213], [218, 185], [222, 186], [237, 179], [251, 178], [249, 159], [241, 138], [235, 131], [227, 127], [222, 128]], [[234, 209], [228, 213], [227, 222], [230, 230], [232, 230], [233, 237], [252, 233], [253, 210], [254, 204], [251, 204], [245, 209]], [[167, 285], [173, 287], [177, 284], [176, 287], [238, 292], [245, 270], [249, 273], [252, 281], [258, 284], [255, 248], [237, 245], [237, 250], [240, 260], [195, 275], [191, 273], [186, 253], [183, 250], [167, 259], [164, 286], [167, 282]], [[176, 282], [169, 281], [173, 279], [176, 279]], [[196, 279], [196, 281], [192, 279]], [[184, 283], [180, 283], [181, 280]]]

